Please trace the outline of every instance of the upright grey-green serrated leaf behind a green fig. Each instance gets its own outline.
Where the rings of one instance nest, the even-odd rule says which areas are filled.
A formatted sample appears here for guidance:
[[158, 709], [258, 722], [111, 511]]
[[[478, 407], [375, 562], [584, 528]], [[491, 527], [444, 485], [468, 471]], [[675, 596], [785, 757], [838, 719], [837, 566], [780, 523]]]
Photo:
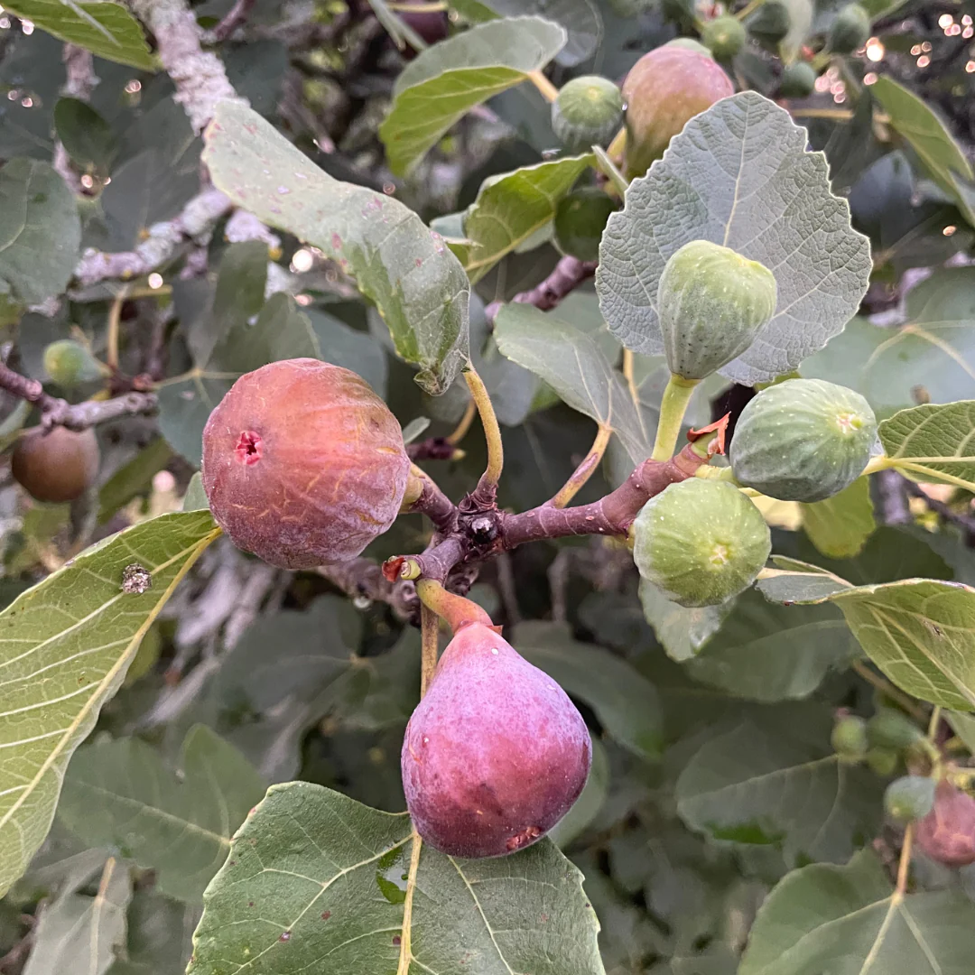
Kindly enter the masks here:
[[842, 330], [867, 289], [870, 245], [850, 227], [826, 159], [807, 152], [806, 139], [787, 111], [745, 92], [692, 119], [630, 184], [606, 226], [596, 275], [606, 323], [627, 348], [661, 351], [660, 275], [692, 240], [760, 261], [778, 285], [772, 320], [722, 375], [771, 381]]

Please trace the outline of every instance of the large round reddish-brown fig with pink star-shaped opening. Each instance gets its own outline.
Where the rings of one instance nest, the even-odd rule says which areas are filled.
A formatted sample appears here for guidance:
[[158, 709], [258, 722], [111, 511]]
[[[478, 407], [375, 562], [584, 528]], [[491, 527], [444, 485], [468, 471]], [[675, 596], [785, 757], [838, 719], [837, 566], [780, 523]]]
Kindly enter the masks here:
[[216, 524], [271, 565], [353, 559], [393, 524], [409, 457], [396, 417], [346, 369], [288, 359], [242, 375], [203, 431]]

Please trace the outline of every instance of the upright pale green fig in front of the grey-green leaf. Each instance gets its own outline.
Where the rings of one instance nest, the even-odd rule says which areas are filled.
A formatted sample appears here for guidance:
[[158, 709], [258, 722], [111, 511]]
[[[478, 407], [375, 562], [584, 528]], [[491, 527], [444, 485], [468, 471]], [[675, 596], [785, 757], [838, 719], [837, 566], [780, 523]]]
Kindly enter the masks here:
[[704, 379], [740, 356], [775, 314], [775, 276], [711, 241], [691, 241], [664, 266], [657, 314], [667, 365]]

